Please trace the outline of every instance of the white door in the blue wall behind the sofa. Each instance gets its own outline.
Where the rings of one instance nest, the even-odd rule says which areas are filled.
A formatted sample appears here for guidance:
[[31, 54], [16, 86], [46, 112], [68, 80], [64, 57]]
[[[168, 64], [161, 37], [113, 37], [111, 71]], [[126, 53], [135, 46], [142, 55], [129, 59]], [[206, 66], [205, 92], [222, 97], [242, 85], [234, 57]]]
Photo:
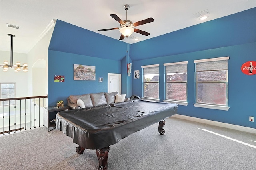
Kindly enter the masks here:
[[108, 73], [108, 92], [121, 94], [121, 74]]

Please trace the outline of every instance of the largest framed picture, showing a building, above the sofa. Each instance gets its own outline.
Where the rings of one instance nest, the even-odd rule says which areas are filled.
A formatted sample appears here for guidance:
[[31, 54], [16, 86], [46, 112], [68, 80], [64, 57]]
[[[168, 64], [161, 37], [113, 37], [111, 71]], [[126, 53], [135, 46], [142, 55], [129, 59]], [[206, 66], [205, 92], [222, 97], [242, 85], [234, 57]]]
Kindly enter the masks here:
[[95, 81], [95, 66], [74, 64], [74, 80]]

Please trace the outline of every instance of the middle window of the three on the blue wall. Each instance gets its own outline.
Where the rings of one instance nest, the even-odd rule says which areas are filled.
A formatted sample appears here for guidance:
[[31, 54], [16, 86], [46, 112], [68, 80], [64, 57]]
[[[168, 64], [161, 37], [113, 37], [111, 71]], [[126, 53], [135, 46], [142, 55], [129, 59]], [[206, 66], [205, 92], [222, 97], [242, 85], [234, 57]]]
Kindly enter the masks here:
[[164, 63], [166, 92], [164, 102], [187, 103], [187, 64], [188, 61]]

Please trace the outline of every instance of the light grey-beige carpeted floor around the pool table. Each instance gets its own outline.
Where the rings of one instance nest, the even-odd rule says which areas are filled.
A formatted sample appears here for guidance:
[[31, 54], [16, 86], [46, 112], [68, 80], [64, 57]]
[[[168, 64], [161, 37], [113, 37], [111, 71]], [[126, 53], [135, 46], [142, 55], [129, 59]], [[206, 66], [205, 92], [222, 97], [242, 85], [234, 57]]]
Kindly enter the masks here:
[[[177, 118], [166, 119], [164, 129], [159, 135], [156, 123], [111, 145], [108, 170], [256, 169], [256, 134]], [[1, 135], [0, 169], [96, 170], [96, 151], [78, 155], [77, 146], [46, 127]]]

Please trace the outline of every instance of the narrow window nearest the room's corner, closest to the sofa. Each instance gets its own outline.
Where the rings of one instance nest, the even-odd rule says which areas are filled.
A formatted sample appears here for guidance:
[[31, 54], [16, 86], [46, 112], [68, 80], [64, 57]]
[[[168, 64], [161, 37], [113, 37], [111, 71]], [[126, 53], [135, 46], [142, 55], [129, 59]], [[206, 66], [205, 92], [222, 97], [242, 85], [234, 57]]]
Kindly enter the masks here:
[[144, 98], [159, 98], [159, 64], [141, 66], [143, 68]]

